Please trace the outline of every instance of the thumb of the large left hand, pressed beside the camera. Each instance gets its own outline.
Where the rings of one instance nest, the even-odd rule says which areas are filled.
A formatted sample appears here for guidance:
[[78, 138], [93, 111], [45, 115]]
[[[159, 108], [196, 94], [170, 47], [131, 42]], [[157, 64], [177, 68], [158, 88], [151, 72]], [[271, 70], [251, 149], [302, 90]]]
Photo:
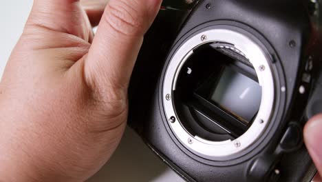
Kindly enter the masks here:
[[90, 88], [103, 97], [111, 91], [127, 92], [143, 36], [160, 3], [161, 0], [109, 1], [85, 59], [85, 81]]

